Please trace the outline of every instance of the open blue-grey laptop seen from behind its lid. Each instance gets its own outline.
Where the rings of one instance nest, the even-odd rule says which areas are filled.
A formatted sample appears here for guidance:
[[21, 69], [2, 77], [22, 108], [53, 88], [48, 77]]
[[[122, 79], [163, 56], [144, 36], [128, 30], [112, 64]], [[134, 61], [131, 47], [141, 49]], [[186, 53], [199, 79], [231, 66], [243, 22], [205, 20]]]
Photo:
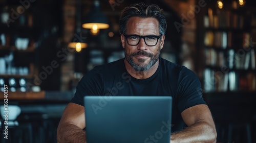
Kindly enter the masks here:
[[85, 96], [88, 143], [170, 142], [172, 97]]

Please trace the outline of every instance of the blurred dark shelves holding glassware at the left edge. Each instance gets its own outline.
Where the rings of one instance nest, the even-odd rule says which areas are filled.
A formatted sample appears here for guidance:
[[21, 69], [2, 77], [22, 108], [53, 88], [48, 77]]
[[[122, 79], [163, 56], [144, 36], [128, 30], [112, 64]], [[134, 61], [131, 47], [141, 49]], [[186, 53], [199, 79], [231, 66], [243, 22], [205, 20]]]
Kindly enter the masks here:
[[[0, 91], [4, 84], [11, 92], [31, 90], [36, 75], [36, 48], [34, 46], [33, 14], [23, 11], [19, 4], [0, 7]], [[16, 14], [16, 15], [15, 15]], [[14, 16], [14, 19], [12, 19]]]

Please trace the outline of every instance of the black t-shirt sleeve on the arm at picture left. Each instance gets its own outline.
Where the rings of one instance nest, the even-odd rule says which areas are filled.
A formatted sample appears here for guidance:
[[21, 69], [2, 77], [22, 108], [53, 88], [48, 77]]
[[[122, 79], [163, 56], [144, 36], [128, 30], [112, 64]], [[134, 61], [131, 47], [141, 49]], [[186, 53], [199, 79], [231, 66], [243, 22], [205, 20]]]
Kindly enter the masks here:
[[95, 96], [102, 93], [103, 77], [99, 69], [94, 68], [78, 82], [74, 97], [70, 102], [83, 105], [84, 96]]

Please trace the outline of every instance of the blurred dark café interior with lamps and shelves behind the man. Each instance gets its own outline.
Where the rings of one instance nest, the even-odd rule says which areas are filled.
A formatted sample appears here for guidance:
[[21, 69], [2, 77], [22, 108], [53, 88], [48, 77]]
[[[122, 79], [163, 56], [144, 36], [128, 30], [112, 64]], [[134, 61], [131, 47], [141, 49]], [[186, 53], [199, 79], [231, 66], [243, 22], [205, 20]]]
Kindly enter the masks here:
[[124, 57], [119, 16], [137, 2], [164, 10], [160, 56], [198, 75], [217, 141], [256, 141], [254, 1], [0, 0], [0, 105], [8, 99], [21, 108], [8, 128], [9, 142], [56, 142], [80, 78]]

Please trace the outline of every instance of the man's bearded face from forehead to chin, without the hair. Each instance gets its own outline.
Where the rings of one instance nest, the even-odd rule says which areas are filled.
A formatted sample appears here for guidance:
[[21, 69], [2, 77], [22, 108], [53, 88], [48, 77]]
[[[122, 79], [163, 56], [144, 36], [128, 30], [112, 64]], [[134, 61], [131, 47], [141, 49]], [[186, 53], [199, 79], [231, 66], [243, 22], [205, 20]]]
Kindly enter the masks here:
[[[126, 35], [160, 35], [159, 23], [156, 18], [131, 17], [127, 21]], [[138, 45], [129, 45], [124, 35], [121, 35], [121, 42], [124, 48], [125, 60], [129, 62], [137, 71], [145, 71], [150, 69], [159, 58], [160, 50], [163, 47], [164, 36], [158, 39], [154, 46], [146, 45], [143, 38], [140, 39]], [[131, 43], [130, 43], [131, 44]]]

